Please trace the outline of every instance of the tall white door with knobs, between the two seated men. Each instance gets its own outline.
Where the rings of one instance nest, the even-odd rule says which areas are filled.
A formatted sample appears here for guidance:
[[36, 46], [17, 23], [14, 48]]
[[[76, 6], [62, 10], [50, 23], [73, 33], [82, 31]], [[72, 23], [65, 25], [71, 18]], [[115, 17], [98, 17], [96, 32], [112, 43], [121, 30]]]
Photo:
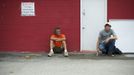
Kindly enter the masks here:
[[107, 0], [81, 0], [81, 50], [95, 50], [107, 22]]

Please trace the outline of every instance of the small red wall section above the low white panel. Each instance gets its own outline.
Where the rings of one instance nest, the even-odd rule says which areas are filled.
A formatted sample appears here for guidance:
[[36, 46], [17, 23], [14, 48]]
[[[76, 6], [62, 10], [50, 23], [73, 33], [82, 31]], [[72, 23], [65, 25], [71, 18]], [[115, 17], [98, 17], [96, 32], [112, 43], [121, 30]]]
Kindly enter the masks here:
[[134, 0], [108, 0], [108, 19], [134, 19]]

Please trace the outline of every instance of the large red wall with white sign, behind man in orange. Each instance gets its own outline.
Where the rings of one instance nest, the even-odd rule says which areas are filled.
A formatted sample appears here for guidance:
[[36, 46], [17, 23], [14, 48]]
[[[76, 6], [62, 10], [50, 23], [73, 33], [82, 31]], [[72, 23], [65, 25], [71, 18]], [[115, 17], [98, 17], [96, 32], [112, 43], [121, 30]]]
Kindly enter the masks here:
[[34, 17], [21, 16], [21, 1], [0, 0], [1, 52], [47, 52], [49, 36], [57, 26], [66, 34], [68, 50], [80, 50], [79, 0], [31, 0]]

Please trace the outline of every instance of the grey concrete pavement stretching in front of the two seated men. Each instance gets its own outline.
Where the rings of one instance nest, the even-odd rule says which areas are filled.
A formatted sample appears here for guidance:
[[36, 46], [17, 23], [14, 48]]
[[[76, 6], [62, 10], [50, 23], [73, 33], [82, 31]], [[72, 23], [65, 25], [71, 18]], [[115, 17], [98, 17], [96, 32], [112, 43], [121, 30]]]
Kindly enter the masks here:
[[1, 54], [0, 75], [133, 75], [134, 55]]

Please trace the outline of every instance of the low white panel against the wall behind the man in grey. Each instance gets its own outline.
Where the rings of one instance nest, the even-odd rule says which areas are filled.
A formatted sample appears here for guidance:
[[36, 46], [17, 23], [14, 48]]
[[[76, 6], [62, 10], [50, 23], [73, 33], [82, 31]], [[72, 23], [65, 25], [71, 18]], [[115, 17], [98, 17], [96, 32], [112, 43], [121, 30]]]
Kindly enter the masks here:
[[134, 20], [111, 19], [109, 23], [118, 36], [117, 48], [124, 53], [134, 53]]

